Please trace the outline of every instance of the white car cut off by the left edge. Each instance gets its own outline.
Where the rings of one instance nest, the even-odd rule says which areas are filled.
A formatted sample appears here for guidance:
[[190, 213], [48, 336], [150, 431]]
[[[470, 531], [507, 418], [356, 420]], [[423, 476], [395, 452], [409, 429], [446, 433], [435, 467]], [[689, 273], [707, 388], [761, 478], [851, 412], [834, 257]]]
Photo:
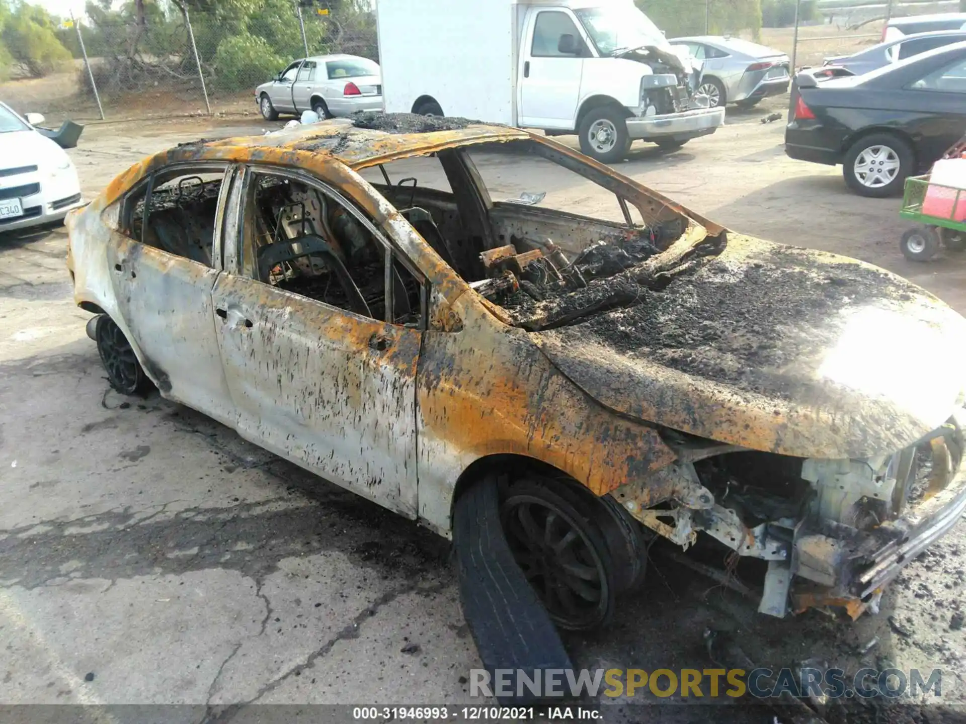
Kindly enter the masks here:
[[83, 206], [77, 169], [53, 137], [35, 127], [42, 123], [41, 114], [22, 118], [0, 102], [0, 232], [63, 221]]

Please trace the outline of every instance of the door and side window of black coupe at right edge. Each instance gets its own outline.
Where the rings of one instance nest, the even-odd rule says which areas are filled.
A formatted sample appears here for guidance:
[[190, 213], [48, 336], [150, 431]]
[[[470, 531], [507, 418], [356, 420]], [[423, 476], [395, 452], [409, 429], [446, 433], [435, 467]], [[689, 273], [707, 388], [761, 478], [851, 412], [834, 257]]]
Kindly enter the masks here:
[[903, 95], [929, 112], [917, 130], [920, 157], [931, 163], [962, 137], [966, 128], [966, 51], [909, 82]]

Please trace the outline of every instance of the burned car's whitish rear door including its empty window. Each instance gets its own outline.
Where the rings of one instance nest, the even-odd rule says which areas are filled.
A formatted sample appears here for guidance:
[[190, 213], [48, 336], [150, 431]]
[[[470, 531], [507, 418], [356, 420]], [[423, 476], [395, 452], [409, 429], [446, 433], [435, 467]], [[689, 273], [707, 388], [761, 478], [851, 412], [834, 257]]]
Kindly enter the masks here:
[[166, 397], [221, 422], [234, 419], [211, 298], [221, 267], [226, 169], [174, 164], [134, 186], [122, 201], [106, 260], [145, 371]]

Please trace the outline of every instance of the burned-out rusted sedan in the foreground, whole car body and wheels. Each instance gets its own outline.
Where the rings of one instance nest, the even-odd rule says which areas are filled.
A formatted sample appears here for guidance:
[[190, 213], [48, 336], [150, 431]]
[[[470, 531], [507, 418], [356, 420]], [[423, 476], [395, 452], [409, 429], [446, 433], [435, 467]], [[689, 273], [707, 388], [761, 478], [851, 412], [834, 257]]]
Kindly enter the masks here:
[[[496, 200], [487, 153], [616, 217]], [[415, 158], [444, 188], [390, 177]], [[966, 508], [958, 314], [525, 130], [366, 116], [199, 141], [69, 227], [113, 387], [453, 536], [559, 627], [608, 619], [647, 531], [763, 561], [765, 613], [857, 616]]]

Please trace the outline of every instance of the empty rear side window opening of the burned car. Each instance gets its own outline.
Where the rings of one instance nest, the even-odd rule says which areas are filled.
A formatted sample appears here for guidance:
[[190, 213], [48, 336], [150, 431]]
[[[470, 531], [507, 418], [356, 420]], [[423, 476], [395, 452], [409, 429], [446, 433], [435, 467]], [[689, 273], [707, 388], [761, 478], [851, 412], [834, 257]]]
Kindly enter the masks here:
[[[214, 220], [224, 170], [211, 168], [158, 174], [131, 208], [130, 236], [169, 254], [212, 266]], [[143, 233], [142, 233], [143, 232]]]

